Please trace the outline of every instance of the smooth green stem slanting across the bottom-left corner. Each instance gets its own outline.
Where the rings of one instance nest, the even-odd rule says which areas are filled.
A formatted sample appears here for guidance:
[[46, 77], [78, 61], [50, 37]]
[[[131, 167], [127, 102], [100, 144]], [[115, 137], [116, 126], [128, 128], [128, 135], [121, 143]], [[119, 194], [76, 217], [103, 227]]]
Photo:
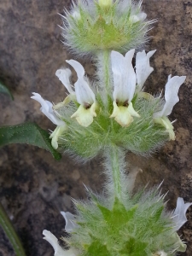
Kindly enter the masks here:
[[0, 203], [0, 225], [3, 227], [5, 234], [8, 236], [9, 241], [14, 248], [16, 256], [26, 256], [26, 253], [21, 245], [20, 238], [15, 232], [15, 228], [11, 223], [7, 213], [5, 212], [2, 204]]

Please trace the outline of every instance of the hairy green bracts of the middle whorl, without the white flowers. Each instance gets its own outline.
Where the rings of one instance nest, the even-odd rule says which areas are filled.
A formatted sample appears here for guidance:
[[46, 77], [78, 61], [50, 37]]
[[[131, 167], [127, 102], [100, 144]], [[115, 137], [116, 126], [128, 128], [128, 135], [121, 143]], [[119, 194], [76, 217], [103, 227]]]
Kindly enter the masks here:
[[114, 119], [109, 118], [113, 111], [110, 97], [107, 108], [99, 95], [97, 102], [100, 109], [93, 123], [86, 128], [79, 125], [76, 119], [70, 118], [77, 110], [73, 102], [57, 109], [68, 125], [67, 131], [59, 139], [61, 150], [89, 160], [115, 144], [135, 154], [148, 155], [168, 140], [165, 128], [154, 124], [153, 121], [154, 112], [160, 109], [159, 98], [146, 100], [136, 95], [133, 107], [141, 118], [135, 118], [128, 127], [122, 127]]

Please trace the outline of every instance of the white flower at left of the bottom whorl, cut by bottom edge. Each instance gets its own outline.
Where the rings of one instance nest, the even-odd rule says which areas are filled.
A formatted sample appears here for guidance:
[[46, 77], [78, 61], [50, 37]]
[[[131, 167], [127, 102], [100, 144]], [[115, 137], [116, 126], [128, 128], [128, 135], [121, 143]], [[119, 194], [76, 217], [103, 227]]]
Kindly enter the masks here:
[[44, 239], [49, 241], [51, 246], [54, 248], [55, 256], [76, 256], [77, 252], [70, 248], [69, 250], [64, 250], [58, 243], [58, 239], [48, 230], [43, 231]]

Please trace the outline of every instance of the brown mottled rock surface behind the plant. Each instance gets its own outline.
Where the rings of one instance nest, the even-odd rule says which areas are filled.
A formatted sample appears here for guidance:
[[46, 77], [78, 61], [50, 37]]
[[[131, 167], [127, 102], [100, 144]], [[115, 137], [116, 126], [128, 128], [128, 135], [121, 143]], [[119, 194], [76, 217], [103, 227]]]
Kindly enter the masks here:
[[[65, 95], [64, 87], [55, 77], [58, 67], [72, 57], [61, 44], [60, 16], [71, 1], [7, 0], [0, 4], [0, 78], [15, 96], [0, 95], [0, 125], [15, 125], [35, 121], [44, 129], [53, 129], [49, 119], [39, 111], [38, 102], [30, 100], [32, 91], [47, 100], [59, 102]], [[177, 196], [192, 201], [192, 3], [187, 0], [143, 1], [148, 19], [158, 19], [150, 32], [147, 49], [158, 49], [146, 90], [156, 94], [164, 89], [167, 76], [187, 75], [179, 90], [180, 102], [171, 119], [176, 141], [167, 143], [159, 153], [145, 159], [127, 155], [132, 166], [143, 172], [137, 176], [137, 186], [163, 183], [169, 190], [168, 207], [173, 209]], [[91, 60], [80, 60], [88, 75], [94, 74]], [[157, 79], [158, 78], [158, 79]], [[99, 191], [102, 188], [102, 166], [93, 160], [84, 166], [74, 164], [63, 156], [60, 162], [43, 149], [27, 145], [10, 145], [0, 149], [0, 199], [12, 219], [25, 247], [26, 255], [49, 256], [53, 249], [42, 239], [47, 229], [60, 237], [65, 221], [60, 211], [73, 211], [70, 200], [84, 198], [84, 184]], [[192, 207], [189, 221], [180, 234], [187, 241], [186, 253], [192, 254]], [[0, 230], [0, 255], [15, 255], [9, 241]]]

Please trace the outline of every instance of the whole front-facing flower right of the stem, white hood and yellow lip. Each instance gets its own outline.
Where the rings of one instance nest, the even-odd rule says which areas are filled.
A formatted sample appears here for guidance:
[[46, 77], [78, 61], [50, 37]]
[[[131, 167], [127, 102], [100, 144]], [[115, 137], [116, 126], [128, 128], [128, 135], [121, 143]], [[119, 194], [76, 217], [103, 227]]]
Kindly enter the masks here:
[[140, 115], [132, 107], [132, 98], [136, 90], [136, 73], [132, 67], [132, 57], [135, 49], [131, 49], [125, 55], [117, 51], [111, 53], [111, 64], [113, 72], [113, 113], [119, 125], [127, 127], [133, 121], [132, 116]]

